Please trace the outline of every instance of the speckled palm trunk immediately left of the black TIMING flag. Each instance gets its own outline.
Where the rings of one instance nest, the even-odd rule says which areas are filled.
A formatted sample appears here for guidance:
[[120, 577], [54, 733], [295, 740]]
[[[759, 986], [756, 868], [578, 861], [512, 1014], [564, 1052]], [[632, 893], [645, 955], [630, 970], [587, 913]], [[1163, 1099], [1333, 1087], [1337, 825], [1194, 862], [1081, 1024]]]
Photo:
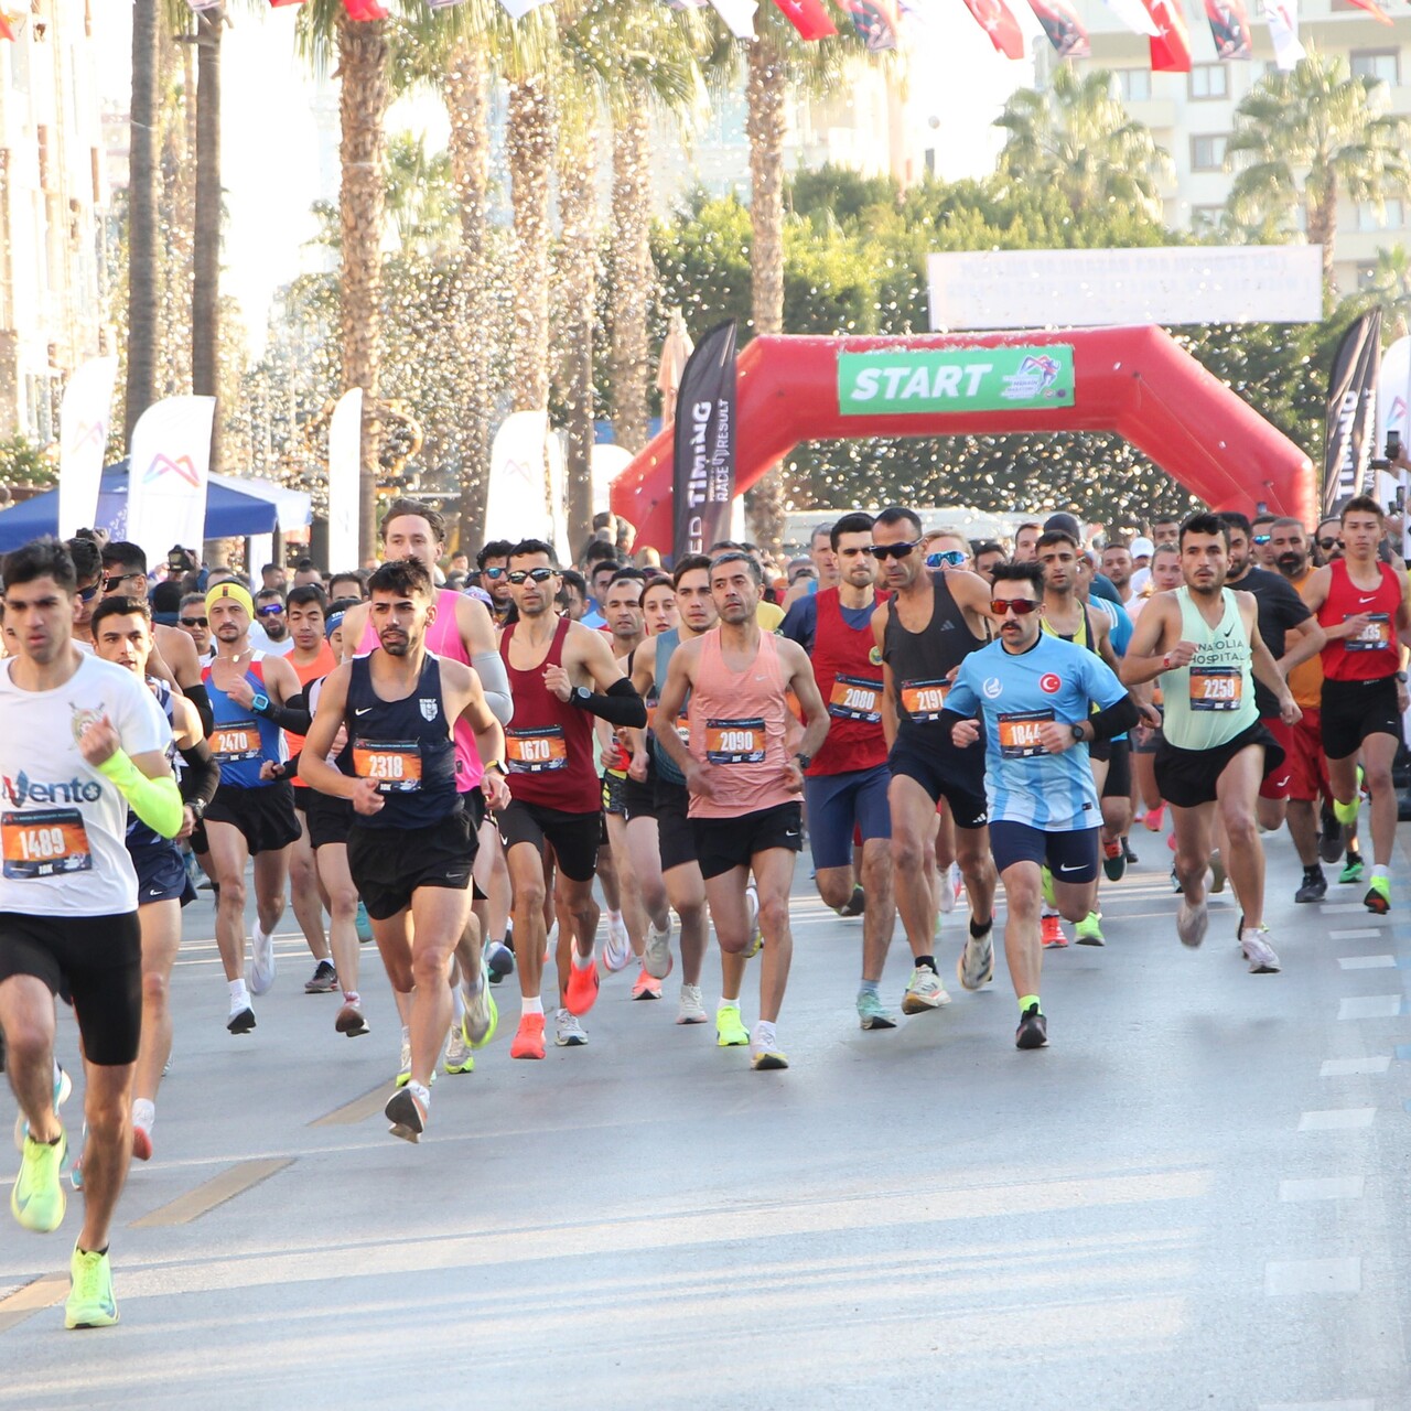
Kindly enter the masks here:
[[646, 444], [652, 308], [650, 123], [642, 95], [612, 124], [612, 429], [619, 446]]

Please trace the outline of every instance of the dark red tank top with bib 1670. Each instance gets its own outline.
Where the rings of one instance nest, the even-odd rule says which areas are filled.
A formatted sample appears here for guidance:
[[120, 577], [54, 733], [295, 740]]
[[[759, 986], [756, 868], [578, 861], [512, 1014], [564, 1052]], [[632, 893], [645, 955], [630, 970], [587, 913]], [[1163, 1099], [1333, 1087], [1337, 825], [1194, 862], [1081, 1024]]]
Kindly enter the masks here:
[[509, 660], [516, 625], [507, 626], [499, 638], [499, 655], [515, 703], [514, 720], [505, 727], [509, 792], [540, 809], [597, 813], [602, 807], [602, 786], [593, 768], [593, 717], [560, 701], [543, 684], [545, 667], [563, 666], [563, 641], [571, 624], [559, 618], [545, 659], [526, 672]]

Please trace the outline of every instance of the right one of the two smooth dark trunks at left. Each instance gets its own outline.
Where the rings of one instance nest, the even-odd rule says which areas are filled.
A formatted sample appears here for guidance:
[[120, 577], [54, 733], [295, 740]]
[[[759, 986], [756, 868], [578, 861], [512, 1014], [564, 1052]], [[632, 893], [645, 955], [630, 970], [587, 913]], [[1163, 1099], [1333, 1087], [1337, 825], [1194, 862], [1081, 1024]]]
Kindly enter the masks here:
[[[220, 391], [220, 32], [222, 6], [196, 18], [196, 219], [190, 293], [190, 389], [198, 396]], [[216, 405], [210, 433], [210, 468], [222, 468], [220, 420]]]

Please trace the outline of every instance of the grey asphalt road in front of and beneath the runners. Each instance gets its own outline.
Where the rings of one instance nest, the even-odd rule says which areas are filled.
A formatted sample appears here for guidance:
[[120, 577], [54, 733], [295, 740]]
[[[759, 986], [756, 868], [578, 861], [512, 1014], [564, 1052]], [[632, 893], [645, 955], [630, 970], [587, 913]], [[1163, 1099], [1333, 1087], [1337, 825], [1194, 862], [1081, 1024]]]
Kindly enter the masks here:
[[[231, 1038], [203, 893], [113, 1233], [123, 1322], [63, 1331], [76, 1202], [52, 1236], [4, 1219], [0, 1404], [1404, 1411], [1411, 890], [1390, 917], [1360, 888], [1295, 907], [1273, 840], [1285, 968], [1254, 976], [1228, 899], [1201, 951], [1177, 943], [1168, 854], [1134, 845], [1106, 948], [1046, 957], [1047, 1050], [1015, 1050], [1002, 962], [983, 993], [952, 982], [964, 913], [954, 1003], [859, 1031], [861, 926], [806, 855], [787, 1072], [677, 1027], [674, 976], [662, 1003], [607, 981], [586, 1048], [512, 1062], [509, 981], [420, 1146], [381, 1116], [375, 954], [349, 1041], [286, 917]], [[899, 940], [889, 1002], [907, 971]]]

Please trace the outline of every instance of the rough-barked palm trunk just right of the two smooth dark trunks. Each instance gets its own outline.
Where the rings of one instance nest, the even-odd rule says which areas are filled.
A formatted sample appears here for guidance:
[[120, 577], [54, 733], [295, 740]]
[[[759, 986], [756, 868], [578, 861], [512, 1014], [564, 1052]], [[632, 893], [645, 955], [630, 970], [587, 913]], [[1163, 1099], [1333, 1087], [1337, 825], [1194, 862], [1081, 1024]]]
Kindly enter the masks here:
[[388, 103], [387, 23], [339, 16], [339, 158], [343, 185], [343, 388], [363, 388], [363, 468], [358, 476], [358, 559], [377, 550], [377, 483], [381, 423], [382, 214]]

